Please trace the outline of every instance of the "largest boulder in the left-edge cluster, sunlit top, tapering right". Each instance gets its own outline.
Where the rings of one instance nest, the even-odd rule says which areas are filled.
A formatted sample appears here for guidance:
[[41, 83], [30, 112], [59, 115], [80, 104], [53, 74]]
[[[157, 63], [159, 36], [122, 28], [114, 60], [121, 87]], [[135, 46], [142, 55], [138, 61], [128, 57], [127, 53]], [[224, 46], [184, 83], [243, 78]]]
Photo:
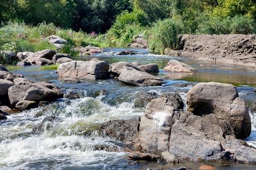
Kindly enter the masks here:
[[8, 90], [9, 100], [12, 105], [19, 101], [42, 101], [56, 99], [57, 93], [49, 88], [30, 82], [20, 82]]

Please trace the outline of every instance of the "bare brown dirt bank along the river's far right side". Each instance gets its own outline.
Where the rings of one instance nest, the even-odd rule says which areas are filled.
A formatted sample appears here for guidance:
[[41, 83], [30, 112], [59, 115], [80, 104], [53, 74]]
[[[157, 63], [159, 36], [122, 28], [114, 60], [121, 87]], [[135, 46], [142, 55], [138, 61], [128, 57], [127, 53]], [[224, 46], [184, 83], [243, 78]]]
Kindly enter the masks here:
[[179, 41], [180, 50], [164, 53], [256, 69], [256, 35], [179, 35]]

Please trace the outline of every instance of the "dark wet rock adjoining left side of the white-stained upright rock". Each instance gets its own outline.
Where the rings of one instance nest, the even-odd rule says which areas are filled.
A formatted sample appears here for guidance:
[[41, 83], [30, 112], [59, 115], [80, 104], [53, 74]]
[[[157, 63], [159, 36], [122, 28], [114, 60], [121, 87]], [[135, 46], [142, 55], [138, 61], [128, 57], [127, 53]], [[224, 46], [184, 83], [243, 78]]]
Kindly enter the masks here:
[[100, 134], [124, 141], [126, 146], [137, 148], [138, 126], [138, 118], [130, 120], [110, 120], [101, 125]]

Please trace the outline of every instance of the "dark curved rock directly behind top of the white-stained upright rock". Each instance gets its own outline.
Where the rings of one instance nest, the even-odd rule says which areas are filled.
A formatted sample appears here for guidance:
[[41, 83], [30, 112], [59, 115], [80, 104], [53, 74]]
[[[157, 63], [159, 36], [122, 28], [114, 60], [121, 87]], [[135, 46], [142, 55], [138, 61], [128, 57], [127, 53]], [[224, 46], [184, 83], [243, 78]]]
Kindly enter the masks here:
[[179, 94], [173, 92], [164, 92], [160, 97], [166, 97], [171, 101], [175, 111], [179, 111], [184, 108], [184, 103]]

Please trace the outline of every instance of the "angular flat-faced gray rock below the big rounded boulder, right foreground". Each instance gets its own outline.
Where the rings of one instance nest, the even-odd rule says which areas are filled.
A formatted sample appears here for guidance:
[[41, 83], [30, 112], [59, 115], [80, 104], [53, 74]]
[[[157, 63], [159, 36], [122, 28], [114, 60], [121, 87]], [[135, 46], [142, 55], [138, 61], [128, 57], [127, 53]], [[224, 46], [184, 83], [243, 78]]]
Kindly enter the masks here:
[[220, 160], [221, 146], [219, 141], [178, 120], [172, 125], [170, 153], [194, 161]]

